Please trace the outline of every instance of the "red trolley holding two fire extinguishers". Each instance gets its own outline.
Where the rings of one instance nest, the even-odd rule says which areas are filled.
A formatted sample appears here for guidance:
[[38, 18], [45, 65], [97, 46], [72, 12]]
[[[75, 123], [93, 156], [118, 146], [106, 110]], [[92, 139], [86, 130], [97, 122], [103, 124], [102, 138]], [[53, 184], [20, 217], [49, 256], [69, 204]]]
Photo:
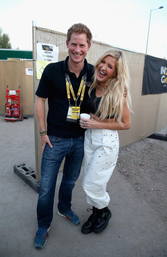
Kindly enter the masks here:
[[[9, 93], [9, 94], [8, 94]], [[16, 95], [18, 93], [18, 95]], [[20, 114], [20, 86], [18, 90], [8, 90], [8, 85], [6, 87], [6, 98], [7, 103], [5, 104], [5, 120], [8, 121], [23, 121], [23, 115]], [[12, 101], [14, 103], [12, 104]]]

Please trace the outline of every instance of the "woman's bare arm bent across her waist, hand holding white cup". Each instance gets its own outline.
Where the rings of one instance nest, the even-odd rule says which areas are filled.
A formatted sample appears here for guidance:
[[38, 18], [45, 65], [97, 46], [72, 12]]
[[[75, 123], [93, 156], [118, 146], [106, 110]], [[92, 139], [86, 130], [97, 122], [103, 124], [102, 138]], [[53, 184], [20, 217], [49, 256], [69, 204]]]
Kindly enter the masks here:
[[[131, 127], [131, 116], [130, 111], [126, 105], [126, 98], [124, 99], [124, 107], [123, 107], [123, 114], [122, 114], [122, 125], [120, 125], [116, 119], [114, 122], [114, 119], [105, 119], [101, 121], [99, 117], [94, 116], [94, 118], [88, 119], [81, 119], [80, 125], [82, 128], [104, 128], [108, 130], [127, 130]], [[83, 124], [86, 122], [87, 126], [83, 126]]]

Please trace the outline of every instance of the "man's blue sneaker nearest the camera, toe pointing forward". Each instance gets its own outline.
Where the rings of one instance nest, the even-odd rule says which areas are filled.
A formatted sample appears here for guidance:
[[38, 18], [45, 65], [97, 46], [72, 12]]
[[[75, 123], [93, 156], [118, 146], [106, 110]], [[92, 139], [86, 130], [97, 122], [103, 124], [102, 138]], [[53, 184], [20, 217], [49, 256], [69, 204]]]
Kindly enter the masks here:
[[34, 237], [34, 246], [36, 249], [42, 249], [47, 243], [47, 236], [49, 236], [48, 231], [50, 230], [50, 227], [45, 230], [39, 228], [39, 230], [36, 232]]

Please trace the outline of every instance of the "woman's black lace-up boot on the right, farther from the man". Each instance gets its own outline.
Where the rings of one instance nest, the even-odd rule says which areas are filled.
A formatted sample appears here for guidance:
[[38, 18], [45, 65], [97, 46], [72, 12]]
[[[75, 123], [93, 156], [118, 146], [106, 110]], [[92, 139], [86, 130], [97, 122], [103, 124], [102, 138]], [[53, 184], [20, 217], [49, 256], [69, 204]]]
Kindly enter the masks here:
[[105, 230], [110, 218], [111, 218], [111, 212], [108, 209], [108, 207], [105, 207], [99, 210], [97, 209], [97, 218], [96, 218], [96, 222], [94, 222], [93, 224], [93, 231], [95, 233], [100, 233], [103, 230]]

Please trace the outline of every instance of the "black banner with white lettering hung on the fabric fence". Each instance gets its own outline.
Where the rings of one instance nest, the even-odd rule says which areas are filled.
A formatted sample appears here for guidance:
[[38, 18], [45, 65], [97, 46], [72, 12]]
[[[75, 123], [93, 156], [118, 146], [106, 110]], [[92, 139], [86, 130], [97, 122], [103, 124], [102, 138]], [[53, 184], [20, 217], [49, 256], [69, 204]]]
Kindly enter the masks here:
[[142, 95], [167, 93], [167, 60], [145, 56]]

